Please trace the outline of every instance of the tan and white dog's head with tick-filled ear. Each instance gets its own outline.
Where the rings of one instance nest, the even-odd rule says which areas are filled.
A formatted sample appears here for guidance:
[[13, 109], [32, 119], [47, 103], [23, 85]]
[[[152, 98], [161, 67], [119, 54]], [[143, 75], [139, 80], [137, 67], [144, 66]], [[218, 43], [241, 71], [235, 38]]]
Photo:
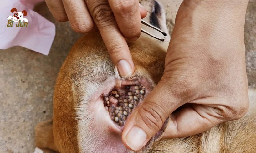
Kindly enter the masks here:
[[[145, 19], [146, 22], [162, 30], [167, 29], [165, 17], [163, 17], [164, 10], [161, 5], [156, 1], [146, 5], [159, 8], [157, 12], [154, 11], [156, 9], [149, 11], [150, 17]], [[154, 30], [146, 29], [146, 27], [145, 30], [154, 32]], [[69, 119], [69, 121], [78, 121], [77, 126], [75, 126], [77, 131], [74, 131], [74, 134], [77, 135], [78, 145], [74, 145], [74, 148], [79, 147], [80, 152], [130, 153], [131, 151], [121, 141], [121, 131], [131, 111], [139, 105], [160, 80], [164, 71], [166, 55], [164, 45], [166, 43], [168, 44], [168, 38], [166, 42], [160, 42], [144, 34], [136, 42], [128, 42], [135, 64], [135, 73], [129, 78], [120, 78], [110, 60], [100, 33], [88, 33], [79, 39], [69, 52], [55, 86], [57, 90], [54, 91], [54, 136], [60, 136], [59, 141], [67, 140], [66, 137], [62, 137], [63, 133], [67, 131], [67, 126], [63, 126], [59, 119], [67, 120], [62, 116], [62, 112], [66, 110], [60, 108], [67, 103], [63, 102], [60, 94], [67, 93], [64, 91], [67, 88], [62, 88], [63, 86], [69, 86], [72, 88], [73, 98], [71, 99], [73, 99], [76, 109], [76, 117]], [[71, 84], [65, 84], [66, 80], [69, 80]], [[115, 98], [120, 97], [119, 103], [113, 97], [113, 94], [117, 92], [120, 95], [115, 95]], [[134, 94], [136, 92], [137, 96], [131, 96], [132, 92]], [[127, 97], [129, 98], [126, 99]], [[117, 110], [117, 107], [120, 110]], [[124, 115], [122, 115], [123, 113]], [[159, 131], [141, 152], [147, 152], [152, 144], [160, 139], [162, 133], [163, 130]], [[71, 139], [74, 138], [71, 133], [69, 136]], [[57, 137], [54, 139], [56, 144], [61, 143]], [[59, 147], [58, 149], [62, 149], [60, 152], [69, 149], [63, 148], [63, 146], [67, 145]]]

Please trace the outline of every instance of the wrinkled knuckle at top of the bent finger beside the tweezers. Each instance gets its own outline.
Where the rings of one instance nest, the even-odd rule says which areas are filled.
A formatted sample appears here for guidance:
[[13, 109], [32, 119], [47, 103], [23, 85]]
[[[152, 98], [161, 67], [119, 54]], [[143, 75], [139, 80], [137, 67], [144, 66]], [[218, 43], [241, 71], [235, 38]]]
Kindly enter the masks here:
[[120, 14], [129, 14], [136, 10], [136, 1], [134, 0], [119, 0], [113, 3], [113, 11]]

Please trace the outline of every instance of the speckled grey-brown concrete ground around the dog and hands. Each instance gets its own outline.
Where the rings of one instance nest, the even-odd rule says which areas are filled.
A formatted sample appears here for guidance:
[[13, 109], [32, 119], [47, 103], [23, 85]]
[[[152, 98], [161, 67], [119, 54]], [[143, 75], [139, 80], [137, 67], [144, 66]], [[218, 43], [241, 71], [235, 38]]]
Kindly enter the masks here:
[[[182, 0], [161, 1], [171, 33]], [[56, 25], [56, 37], [48, 56], [23, 47], [0, 51], [0, 153], [34, 151], [34, 127], [52, 117], [56, 77], [81, 36], [72, 31], [68, 22], [55, 21], [44, 2], [34, 10]], [[256, 0], [248, 4], [244, 31], [248, 81], [256, 87]]]

